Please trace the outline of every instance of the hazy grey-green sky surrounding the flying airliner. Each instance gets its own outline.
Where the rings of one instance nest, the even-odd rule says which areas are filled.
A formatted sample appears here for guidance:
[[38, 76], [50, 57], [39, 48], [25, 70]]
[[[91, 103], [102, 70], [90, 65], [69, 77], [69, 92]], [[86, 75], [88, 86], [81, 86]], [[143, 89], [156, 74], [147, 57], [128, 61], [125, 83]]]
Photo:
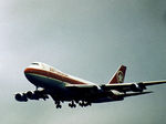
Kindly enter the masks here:
[[0, 0], [1, 124], [165, 124], [166, 85], [91, 107], [14, 100], [35, 87], [23, 70], [39, 61], [97, 84], [121, 64], [125, 82], [166, 80], [165, 0]]

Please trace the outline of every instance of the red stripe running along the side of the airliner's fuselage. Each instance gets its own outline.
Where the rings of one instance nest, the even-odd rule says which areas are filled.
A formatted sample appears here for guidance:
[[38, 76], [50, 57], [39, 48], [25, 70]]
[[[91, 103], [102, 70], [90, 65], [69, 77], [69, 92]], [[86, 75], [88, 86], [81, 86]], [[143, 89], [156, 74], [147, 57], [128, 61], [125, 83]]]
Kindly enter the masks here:
[[85, 82], [81, 82], [79, 80], [71, 79], [71, 78], [69, 78], [68, 75], [65, 75], [61, 72], [50, 72], [50, 71], [45, 71], [45, 70], [41, 70], [41, 69], [27, 68], [24, 70], [24, 73], [39, 74], [39, 75], [52, 78], [52, 79], [55, 79], [55, 80], [60, 80], [62, 82], [66, 82], [66, 83], [70, 83], [70, 84], [86, 84]]

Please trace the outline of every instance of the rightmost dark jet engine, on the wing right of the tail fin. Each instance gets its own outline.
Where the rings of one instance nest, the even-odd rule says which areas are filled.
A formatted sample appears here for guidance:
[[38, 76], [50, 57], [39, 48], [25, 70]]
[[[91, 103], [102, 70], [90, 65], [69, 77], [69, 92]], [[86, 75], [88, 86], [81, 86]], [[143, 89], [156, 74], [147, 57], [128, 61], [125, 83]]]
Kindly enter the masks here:
[[134, 83], [131, 85], [131, 90], [134, 92], [143, 92], [145, 89], [146, 86], [143, 83]]

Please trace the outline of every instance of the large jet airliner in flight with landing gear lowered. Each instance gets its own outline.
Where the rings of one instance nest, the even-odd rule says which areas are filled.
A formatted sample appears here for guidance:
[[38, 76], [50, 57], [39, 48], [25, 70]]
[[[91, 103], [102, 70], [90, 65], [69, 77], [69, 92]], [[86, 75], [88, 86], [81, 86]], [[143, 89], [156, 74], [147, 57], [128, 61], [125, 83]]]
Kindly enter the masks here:
[[95, 84], [42, 62], [33, 62], [25, 68], [24, 75], [37, 87], [35, 91], [17, 93], [14, 97], [19, 102], [28, 102], [40, 99], [45, 101], [51, 96], [56, 108], [61, 108], [63, 102], [69, 102], [70, 107], [76, 105], [85, 107], [92, 103], [123, 101], [124, 97], [148, 94], [152, 91], [144, 91], [146, 86], [166, 83], [166, 81], [124, 83], [125, 73], [126, 66], [121, 65], [108, 83]]

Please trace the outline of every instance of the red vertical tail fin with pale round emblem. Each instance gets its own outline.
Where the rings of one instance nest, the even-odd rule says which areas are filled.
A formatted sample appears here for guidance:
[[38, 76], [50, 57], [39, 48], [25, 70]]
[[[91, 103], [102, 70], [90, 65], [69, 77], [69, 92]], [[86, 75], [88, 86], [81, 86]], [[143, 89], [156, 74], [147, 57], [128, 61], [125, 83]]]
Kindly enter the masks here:
[[126, 66], [121, 65], [113, 78], [110, 80], [108, 84], [123, 83], [125, 79]]

